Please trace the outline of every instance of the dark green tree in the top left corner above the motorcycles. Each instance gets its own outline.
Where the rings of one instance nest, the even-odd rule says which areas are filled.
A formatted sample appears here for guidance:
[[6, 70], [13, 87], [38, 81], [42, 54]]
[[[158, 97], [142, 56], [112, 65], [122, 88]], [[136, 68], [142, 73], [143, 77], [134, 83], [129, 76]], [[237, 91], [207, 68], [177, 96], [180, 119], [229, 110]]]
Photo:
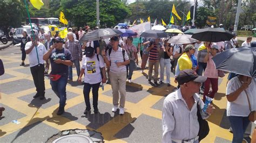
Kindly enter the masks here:
[[19, 27], [25, 18], [24, 3], [17, 0], [0, 1], [0, 27], [7, 32], [9, 26]]

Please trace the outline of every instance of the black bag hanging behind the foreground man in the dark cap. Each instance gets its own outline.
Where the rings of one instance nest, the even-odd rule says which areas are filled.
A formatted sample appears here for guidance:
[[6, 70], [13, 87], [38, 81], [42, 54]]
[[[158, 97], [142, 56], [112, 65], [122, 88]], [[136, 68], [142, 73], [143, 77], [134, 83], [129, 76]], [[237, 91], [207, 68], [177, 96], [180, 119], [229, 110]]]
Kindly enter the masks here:
[[197, 119], [199, 123], [199, 131], [198, 131], [198, 141], [200, 142], [204, 139], [210, 132], [210, 127], [208, 125], [207, 120], [203, 119], [200, 113], [200, 106], [197, 104]]

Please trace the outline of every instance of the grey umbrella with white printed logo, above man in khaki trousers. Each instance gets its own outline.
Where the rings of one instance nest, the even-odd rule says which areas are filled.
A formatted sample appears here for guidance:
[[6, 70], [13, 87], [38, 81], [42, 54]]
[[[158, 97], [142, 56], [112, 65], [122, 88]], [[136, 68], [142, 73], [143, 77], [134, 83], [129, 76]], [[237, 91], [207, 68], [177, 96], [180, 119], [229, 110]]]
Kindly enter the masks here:
[[102, 28], [102, 29], [97, 29], [97, 30], [93, 30], [91, 32], [86, 33], [85, 35], [83, 35], [83, 37], [79, 41], [80, 42], [95, 41], [100, 39], [111, 38], [113, 36], [118, 36], [120, 34], [123, 34], [123, 33], [111, 28]]

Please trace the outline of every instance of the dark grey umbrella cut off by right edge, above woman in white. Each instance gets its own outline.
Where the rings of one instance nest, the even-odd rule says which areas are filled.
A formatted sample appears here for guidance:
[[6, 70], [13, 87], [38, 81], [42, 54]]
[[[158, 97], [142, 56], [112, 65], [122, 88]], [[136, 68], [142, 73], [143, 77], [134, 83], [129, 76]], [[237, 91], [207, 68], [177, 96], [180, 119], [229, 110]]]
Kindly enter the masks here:
[[217, 69], [256, 77], [256, 48], [228, 49], [214, 56], [212, 60]]

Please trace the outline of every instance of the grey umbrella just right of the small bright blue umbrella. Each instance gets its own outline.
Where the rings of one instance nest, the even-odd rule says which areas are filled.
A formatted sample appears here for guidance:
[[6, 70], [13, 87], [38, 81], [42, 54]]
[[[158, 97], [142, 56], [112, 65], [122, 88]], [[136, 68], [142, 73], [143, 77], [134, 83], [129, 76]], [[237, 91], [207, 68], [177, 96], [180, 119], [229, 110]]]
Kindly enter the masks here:
[[157, 38], [165, 38], [167, 37], [167, 34], [164, 31], [159, 31], [159, 30], [146, 30], [142, 32], [142, 34], [140, 34], [140, 37], [157, 39]]

